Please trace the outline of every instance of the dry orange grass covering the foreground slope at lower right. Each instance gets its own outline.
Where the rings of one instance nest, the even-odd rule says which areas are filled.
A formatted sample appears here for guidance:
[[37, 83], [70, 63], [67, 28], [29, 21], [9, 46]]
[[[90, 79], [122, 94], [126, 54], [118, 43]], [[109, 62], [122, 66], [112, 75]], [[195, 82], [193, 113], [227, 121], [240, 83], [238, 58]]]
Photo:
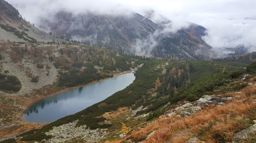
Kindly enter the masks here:
[[[237, 121], [243, 119], [246, 111], [256, 107], [256, 104], [247, 102], [248, 99], [256, 98], [255, 92], [256, 86], [249, 86], [242, 90], [242, 93], [239, 94], [241, 96], [240, 98], [233, 98], [232, 102], [225, 103], [223, 106], [211, 106], [187, 118], [160, 118], [147, 125], [145, 128], [132, 132], [122, 140], [131, 139], [135, 142], [140, 141], [140, 139], [145, 139], [153, 130], [156, 130], [155, 134], [153, 134], [150, 139], [143, 142], [186, 142], [190, 137], [194, 137], [200, 129], [209, 126], [210, 123], [215, 123], [211, 126], [210, 131], [207, 131], [206, 142], [218, 142], [215, 135], [219, 133], [221, 133], [226, 140], [231, 141], [234, 132], [244, 128], [244, 126]], [[227, 115], [230, 115], [230, 117]], [[120, 143], [122, 140], [113, 142]]]

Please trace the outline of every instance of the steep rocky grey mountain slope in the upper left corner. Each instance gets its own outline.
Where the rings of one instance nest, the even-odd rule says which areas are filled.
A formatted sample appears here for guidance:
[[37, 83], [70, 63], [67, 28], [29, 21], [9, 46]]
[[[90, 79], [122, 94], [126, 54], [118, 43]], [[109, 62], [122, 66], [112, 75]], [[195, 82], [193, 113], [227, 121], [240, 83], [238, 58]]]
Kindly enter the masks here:
[[4, 0], [0, 0], [0, 15], [0, 40], [30, 43], [62, 41], [24, 20], [18, 10]]

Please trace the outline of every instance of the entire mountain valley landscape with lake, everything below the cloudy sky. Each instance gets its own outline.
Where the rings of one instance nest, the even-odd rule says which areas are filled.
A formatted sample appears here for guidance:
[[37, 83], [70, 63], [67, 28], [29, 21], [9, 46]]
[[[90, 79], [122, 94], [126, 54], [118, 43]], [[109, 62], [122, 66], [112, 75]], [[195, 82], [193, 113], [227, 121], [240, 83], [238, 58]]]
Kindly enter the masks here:
[[0, 0], [0, 143], [256, 142], [253, 46], [153, 10], [47, 10], [37, 28]]

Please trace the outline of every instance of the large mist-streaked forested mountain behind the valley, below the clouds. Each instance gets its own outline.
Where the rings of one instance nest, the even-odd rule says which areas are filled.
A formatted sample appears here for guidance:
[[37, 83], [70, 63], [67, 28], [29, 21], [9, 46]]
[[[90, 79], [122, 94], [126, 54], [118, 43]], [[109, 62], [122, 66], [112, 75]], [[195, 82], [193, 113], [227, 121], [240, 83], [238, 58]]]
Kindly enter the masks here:
[[211, 59], [214, 54], [202, 39], [204, 27], [191, 23], [173, 33], [170, 32], [172, 21], [155, 23], [138, 13], [75, 15], [59, 11], [52, 18], [41, 19], [39, 27], [58, 37], [170, 60]]

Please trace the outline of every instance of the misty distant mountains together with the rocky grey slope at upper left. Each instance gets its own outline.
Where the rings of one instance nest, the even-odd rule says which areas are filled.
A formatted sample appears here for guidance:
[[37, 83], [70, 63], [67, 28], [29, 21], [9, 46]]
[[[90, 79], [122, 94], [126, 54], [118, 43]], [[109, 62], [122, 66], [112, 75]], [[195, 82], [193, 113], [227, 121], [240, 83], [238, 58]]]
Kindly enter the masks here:
[[[74, 15], [59, 11], [53, 19], [40, 19], [39, 30], [27, 22], [12, 5], [0, 0], [0, 40], [14, 42], [77, 40], [119, 52], [155, 56], [168, 60], [212, 59], [214, 52], [203, 39], [205, 28], [190, 23], [173, 33], [172, 21], [155, 23], [138, 14], [102, 15], [91, 12]], [[56, 36], [56, 37], [55, 37]]]

